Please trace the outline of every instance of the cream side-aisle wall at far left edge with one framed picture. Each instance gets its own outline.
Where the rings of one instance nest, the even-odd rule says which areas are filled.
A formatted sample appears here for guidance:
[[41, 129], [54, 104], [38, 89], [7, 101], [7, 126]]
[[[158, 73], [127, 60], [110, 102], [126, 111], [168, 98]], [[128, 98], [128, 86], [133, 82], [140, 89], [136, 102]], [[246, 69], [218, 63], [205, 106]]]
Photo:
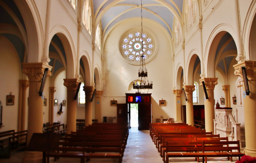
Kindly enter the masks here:
[[[19, 77], [21, 66], [12, 43], [0, 35], [0, 101], [2, 102], [2, 123], [0, 132], [18, 129]], [[6, 106], [6, 95], [14, 95], [14, 105]]]

